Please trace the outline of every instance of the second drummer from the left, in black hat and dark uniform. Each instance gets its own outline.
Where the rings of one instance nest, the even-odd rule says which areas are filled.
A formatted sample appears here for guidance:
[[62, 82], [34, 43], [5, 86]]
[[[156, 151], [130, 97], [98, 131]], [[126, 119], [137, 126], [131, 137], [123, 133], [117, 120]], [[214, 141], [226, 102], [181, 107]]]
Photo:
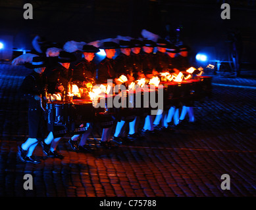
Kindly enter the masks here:
[[[68, 94], [68, 82], [70, 81], [69, 66], [70, 62], [74, 62], [75, 60], [76, 57], [72, 53], [61, 51], [54, 68], [45, 70], [49, 93], [61, 93], [63, 97]], [[57, 152], [56, 149], [66, 129], [63, 126], [49, 126], [48, 130], [50, 132], [48, 137], [41, 141], [43, 153], [47, 157], [63, 159], [63, 155]]]

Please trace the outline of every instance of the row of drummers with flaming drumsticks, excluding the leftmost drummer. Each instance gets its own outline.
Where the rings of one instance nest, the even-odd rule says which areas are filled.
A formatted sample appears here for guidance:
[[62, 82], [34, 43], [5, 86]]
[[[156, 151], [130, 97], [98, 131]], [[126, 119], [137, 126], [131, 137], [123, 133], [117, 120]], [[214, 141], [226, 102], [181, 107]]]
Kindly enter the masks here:
[[[99, 49], [103, 49], [106, 56], [96, 65], [93, 58]], [[156, 53], [153, 53], [154, 49], [157, 49]], [[193, 74], [186, 72], [191, 67], [188, 61], [189, 50], [186, 45], [177, 47], [165, 39], [158, 39], [156, 43], [131, 39], [105, 41], [99, 47], [84, 45], [82, 52], [75, 53], [76, 58], [74, 53], [61, 51], [59, 60], [53, 62], [56, 58], [51, 58], [55, 65], [44, 72], [47, 77], [48, 140], [53, 138], [58, 142], [61, 137], [71, 134], [68, 142], [74, 151], [89, 151], [86, 140], [93, 134], [92, 131], [100, 131], [100, 145], [103, 148], [112, 148], [113, 142], [126, 144], [159, 131], [173, 132], [174, 126], [182, 122], [186, 114], [189, 121], [195, 121], [193, 101], [201, 100], [199, 98], [204, 96], [205, 79], [195, 77], [177, 83], [163, 76], [163, 73], [178, 75], [182, 72], [186, 76], [199, 73], [199, 70]], [[117, 56], [116, 51], [120, 51]], [[125, 81], [122, 80], [123, 76]], [[91, 106], [89, 92], [93, 85], [128, 87], [140, 79], [150, 81], [153, 77], [159, 77], [164, 87], [164, 107], [158, 110], [157, 115], [151, 114], [150, 107], [108, 109], [106, 106], [95, 109]], [[82, 96], [70, 96], [70, 84], [77, 85], [82, 90]], [[57, 100], [58, 97], [61, 101]], [[140, 129], [140, 125], [143, 128]], [[42, 145], [46, 147], [46, 144]]]

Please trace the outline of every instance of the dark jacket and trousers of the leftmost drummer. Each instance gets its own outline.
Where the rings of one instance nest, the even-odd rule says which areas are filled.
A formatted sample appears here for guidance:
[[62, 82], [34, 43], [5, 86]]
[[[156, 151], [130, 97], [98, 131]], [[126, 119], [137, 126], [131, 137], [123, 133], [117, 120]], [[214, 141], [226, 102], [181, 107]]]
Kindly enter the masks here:
[[28, 128], [29, 138], [44, 138], [44, 114], [39, 100], [35, 95], [43, 95], [45, 88], [45, 79], [43, 75], [33, 72], [27, 75], [20, 86], [19, 92], [22, 98], [28, 100]]

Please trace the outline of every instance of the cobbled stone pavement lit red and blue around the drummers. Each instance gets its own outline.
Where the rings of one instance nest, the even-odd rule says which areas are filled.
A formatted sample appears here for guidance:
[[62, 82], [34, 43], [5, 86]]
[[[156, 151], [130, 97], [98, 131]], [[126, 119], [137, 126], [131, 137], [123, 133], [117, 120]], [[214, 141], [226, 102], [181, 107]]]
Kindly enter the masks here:
[[[195, 123], [105, 150], [94, 132], [91, 153], [73, 152], [64, 138], [64, 159], [22, 163], [17, 146], [28, 137], [27, 104], [16, 95], [30, 70], [0, 64], [0, 196], [18, 197], [255, 197], [256, 79], [213, 76], [213, 96], [196, 102]], [[223, 86], [220, 84], [236, 85]], [[242, 87], [245, 86], [245, 87]], [[33, 190], [24, 190], [24, 175]], [[230, 190], [220, 177], [230, 176]]]

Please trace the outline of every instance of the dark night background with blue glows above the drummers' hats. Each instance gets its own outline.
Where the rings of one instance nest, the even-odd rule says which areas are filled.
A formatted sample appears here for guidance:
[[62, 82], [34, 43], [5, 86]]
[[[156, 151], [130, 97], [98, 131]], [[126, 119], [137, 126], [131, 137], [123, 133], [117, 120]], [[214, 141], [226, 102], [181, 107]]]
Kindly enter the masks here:
[[[48, 41], [95, 41], [116, 35], [141, 37], [146, 29], [162, 37], [165, 25], [182, 26], [181, 39], [192, 47], [192, 55], [208, 53], [211, 59], [230, 60], [229, 31], [240, 31], [243, 64], [255, 65], [256, 3], [226, 1], [230, 20], [222, 20], [223, 1], [188, 0], [88, 0], [88, 1], [18, 1], [0, 2], [0, 39], [7, 35], [14, 49], [32, 49], [36, 35]], [[25, 3], [33, 6], [33, 20], [24, 20]], [[10, 38], [11, 36], [11, 38]]]

